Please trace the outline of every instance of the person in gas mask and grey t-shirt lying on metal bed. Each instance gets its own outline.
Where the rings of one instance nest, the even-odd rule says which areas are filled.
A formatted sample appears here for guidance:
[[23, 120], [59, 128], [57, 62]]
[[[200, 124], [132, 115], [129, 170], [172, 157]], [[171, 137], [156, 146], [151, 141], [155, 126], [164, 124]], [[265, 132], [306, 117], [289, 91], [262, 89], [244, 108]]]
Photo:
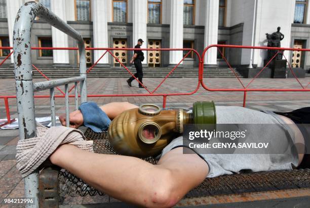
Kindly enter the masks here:
[[[111, 102], [98, 107], [95, 102], [85, 102], [78, 111], [69, 114], [71, 128], [51, 127], [52, 134], [59, 134], [55, 131], [78, 131], [75, 129], [82, 125], [95, 132], [108, 129], [111, 145], [123, 155], [93, 153], [89, 143], [82, 145], [89, 141], [83, 141], [83, 135], [77, 135], [78, 139], [67, 138], [74, 141], [74, 145], [55, 147], [48, 159], [114, 198], [140, 206], [170, 207], [206, 177], [309, 167], [309, 154], [306, 154], [310, 139], [310, 129], [306, 125], [310, 123], [309, 119], [310, 108], [274, 113], [196, 102], [189, 112], [161, 110], [151, 104], [138, 107], [129, 102]], [[65, 126], [65, 116], [60, 116], [60, 121]], [[196, 142], [188, 137], [187, 124], [203, 124], [205, 127], [216, 124], [216, 131], [218, 125], [233, 124], [234, 128], [248, 128], [247, 142], [264, 141], [276, 144], [276, 147], [263, 153], [235, 150], [219, 153], [207, 148], [200, 151], [185, 145], [187, 140], [192, 145]], [[256, 128], [259, 125], [264, 126]], [[207, 140], [212, 143], [213, 139], [209, 137]], [[30, 139], [26, 140], [30, 142]], [[149, 155], [159, 159], [157, 165], [139, 158]], [[18, 151], [18, 164], [22, 156]]]

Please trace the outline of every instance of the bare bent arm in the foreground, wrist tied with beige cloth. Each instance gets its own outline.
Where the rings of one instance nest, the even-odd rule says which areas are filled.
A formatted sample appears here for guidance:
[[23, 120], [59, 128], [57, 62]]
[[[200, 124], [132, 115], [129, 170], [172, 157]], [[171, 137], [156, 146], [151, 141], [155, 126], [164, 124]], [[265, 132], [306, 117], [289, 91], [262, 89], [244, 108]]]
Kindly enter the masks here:
[[50, 160], [114, 198], [151, 207], [173, 206], [209, 172], [205, 161], [183, 154], [181, 147], [165, 154], [158, 165], [72, 145], [60, 146]]

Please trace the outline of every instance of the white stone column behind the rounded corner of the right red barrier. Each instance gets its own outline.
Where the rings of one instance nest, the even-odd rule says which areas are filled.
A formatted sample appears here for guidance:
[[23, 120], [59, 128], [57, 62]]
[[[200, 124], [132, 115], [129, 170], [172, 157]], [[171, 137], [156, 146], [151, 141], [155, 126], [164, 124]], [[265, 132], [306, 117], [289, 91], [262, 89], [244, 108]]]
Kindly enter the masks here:
[[[206, 1], [206, 16], [205, 16], [205, 48], [211, 44], [217, 44], [218, 33], [218, 9], [219, 0]], [[217, 48], [208, 49], [204, 64], [217, 65], [216, 61]]]

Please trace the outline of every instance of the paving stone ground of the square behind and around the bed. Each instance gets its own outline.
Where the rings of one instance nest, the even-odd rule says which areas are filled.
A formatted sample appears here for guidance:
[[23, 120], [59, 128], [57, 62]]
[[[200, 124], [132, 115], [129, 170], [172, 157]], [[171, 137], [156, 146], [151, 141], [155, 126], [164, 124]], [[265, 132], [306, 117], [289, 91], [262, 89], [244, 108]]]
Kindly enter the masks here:
[[[34, 79], [34, 82], [45, 79]], [[144, 83], [151, 91], [160, 78], [145, 78]], [[241, 79], [244, 85], [251, 79]], [[198, 78], [168, 78], [157, 90], [158, 93], [192, 92], [197, 87]], [[305, 87], [310, 82], [310, 78], [300, 79]], [[204, 83], [209, 88], [241, 88], [242, 85], [234, 78], [204, 78]], [[300, 88], [295, 79], [256, 79], [250, 87], [252, 88]], [[307, 86], [310, 88], [310, 86]], [[60, 87], [64, 90], [64, 87]], [[60, 94], [57, 90], [56, 94]], [[147, 93], [145, 89], [139, 89], [134, 81], [133, 87], [129, 87], [126, 79], [117, 78], [89, 78], [89, 94], [124, 94], [124, 93]], [[36, 94], [49, 94], [41, 91]], [[0, 95], [15, 95], [14, 79], [0, 79]], [[162, 106], [162, 96], [151, 97], [89, 97], [88, 100], [96, 101], [98, 105], [111, 101], [129, 101], [140, 105], [141, 103], [156, 103]], [[168, 96], [167, 107], [191, 107], [195, 101], [214, 100], [216, 105], [221, 106], [242, 106], [243, 92], [211, 92], [200, 89], [193, 95]], [[291, 111], [294, 109], [310, 106], [310, 92], [248, 92], [247, 108], [255, 110], [269, 111]], [[17, 118], [16, 99], [9, 99], [11, 118]], [[65, 112], [64, 99], [56, 98], [57, 115]], [[45, 117], [50, 114], [48, 98], [35, 99], [36, 117]], [[73, 99], [70, 98], [70, 111], [74, 110]], [[4, 100], [0, 99], [0, 119], [6, 118]], [[0, 130], [0, 204], [4, 198], [15, 198], [24, 196], [24, 184], [21, 175], [16, 169], [16, 144], [18, 141], [18, 129]], [[107, 197], [74, 197], [65, 200], [66, 205], [83, 204], [94, 202], [107, 202], [115, 199]], [[11, 207], [11, 206], [4, 206]], [[22, 207], [22, 206], [21, 206]]]

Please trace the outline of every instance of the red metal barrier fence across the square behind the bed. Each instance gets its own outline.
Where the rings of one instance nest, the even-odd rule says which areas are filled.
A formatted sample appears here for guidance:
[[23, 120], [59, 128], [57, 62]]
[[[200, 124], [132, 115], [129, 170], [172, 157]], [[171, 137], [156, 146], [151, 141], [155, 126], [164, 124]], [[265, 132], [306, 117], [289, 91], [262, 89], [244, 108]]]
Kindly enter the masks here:
[[[241, 83], [243, 88], [209, 88], [204, 82], [203, 82], [203, 72], [204, 72], [204, 59], [207, 53], [207, 50], [211, 47], [217, 47], [219, 53], [221, 54], [223, 60], [227, 63], [228, 67], [230, 68], [230, 70], [235, 74], [236, 78], [239, 80], [239, 82]], [[243, 82], [241, 81], [241, 79], [238, 77], [237, 73], [234, 71], [234, 69], [231, 68], [229, 62], [227, 61], [227, 59], [225, 58], [225, 56], [223, 55], [222, 51], [219, 49], [220, 47], [225, 47], [225, 48], [249, 48], [249, 49], [274, 49], [277, 50], [277, 53], [273, 56], [272, 59], [270, 59], [267, 64], [260, 70], [260, 72], [258, 72], [258, 74], [245, 86], [243, 84]], [[12, 47], [0, 47], [0, 49], [12, 49]], [[77, 47], [31, 47], [31, 49], [35, 49], [35, 50], [78, 50]], [[104, 53], [102, 54], [102, 56], [87, 70], [87, 73], [90, 73], [91, 70], [98, 64], [98, 62], [106, 55], [106, 54], [110, 54], [117, 62], [120, 63], [120, 65], [128, 71], [128, 73], [130, 75], [133, 76], [133, 74], [131, 73], [131, 71], [123, 64], [121, 63], [121, 61], [115, 57], [113, 55], [113, 53], [111, 53], [112, 50], [154, 50], [153, 48], [87, 48], [87, 50], [103, 50]], [[272, 60], [279, 54], [279, 53], [283, 53], [284, 50], [298, 50], [298, 51], [310, 51], [310, 49], [297, 49], [297, 48], [278, 48], [278, 47], [259, 47], [259, 46], [242, 46], [242, 45], [220, 45], [220, 44], [215, 44], [215, 45], [209, 45], [208, 47], [206, 47], [203, 51], [202, 56], [200, 56], [200, 54], [197, 52], [197, 50], [192, 49], [192, 48], [157, 48], [156, 50], [161, 50], [161, 51], [172, 51], [172, 50], [182, 50], [182, 51], [188, 51], [187, 54], [179, 61], [178, 64], [176, 64], [176, 66], [174, 68], [172, 68], [172, 70], [167, 74], [167, 76], [159, 83], [159, 85], [152, 91], [150, 91], [149, 89], [147, 89], [142, 83], [140, 83], [138, 81], [138, 79], [135, 77], [135, 79], [142, 84], [142, 86], [145, 88], [145, 90], [147, 91], [147, 93], [139, 93], [139, 94], [88, 94], [88, 97], [119, 97], [119, 96], [163, 96], [163, 108], [166, 107], [166, 99], [167, 96], [177, 96], [177, 95], [191, 95], [191, 94], [195, 94], [200, 85], [208, 90], [208, 91], [243, 91], [244, 92], [244, 98], [243, 98], [243, 106], [245, 107], [246, 104], [246, 95], [248, 91], [306, 91], [309, 92], [310, 89], [307, 88], [309, 86], [310, 83], [308, 83], [306, 86], [303, 86], [300, 81], [298, 80], [298, 78], [296, 77], [295, 73], [293, 72], [290, 62], [287, 60], [287, 58], [284, 56], [285, 60], [287, 61], [287, 64], [289, 66], [290, 71], [292, 72], [293, 76], [295, 77], [295, 79], [298, 81], [298, 83], [300, 84], [301, 88], [300, 89], [292, 89], [292, 88], [286, 88], [286, 89], [275, 89], [275, 88], [249, 88], [249, 85], [254, 81], [254, 79], [256, 79], [258, 77], [258, 75], [268, 66], [268, 64], [270, 64], [270, 62], [272, 62]], [[197, 82], [197, 86], [196, 89], [194, 89], [191, 92], [184, 92], [184, 93], [155, 93], [157, 91], [157, 89], [166, 81], [166, 79], [175, 71], [175, 69], [182, 63], [182, 61], [184, 61], [184, 59], [190, 54], [190, 53], [195, 53], [198, 57], [198, 61], [199, 61], [199, 70], [198, 70], [198, 82]], [[0, 66], [7, 60], [10, 58], [10, 56], [13, 54], [13, 51], [11, 51], [11, 53], [0, 63]], [[49, 78], [40, 71], [40, 69], [38, 69], [36, 66], [32, 65], [32, 67], [38, 71], [38, 73], [40, 73], [45, 79], [49, 80]], [[70, 88], [69, 92], [74, 88], [74, 85]], [[55, 97], [65, 97], [64, 96], [64, 92], [57, 88], [62, 95], [55, 95]], [[49, 98], [50, 95], [34, 95], [35, 98]], [[69, 97], [74, 97], [74, 95], [69, 95]], [[16, 95], [3, 95], [0, 96], [0, 98], [4, 99], [5, 102], [5, 109], [6, 109], [6, 114], [7, 114], [7, 123], [2, 124], [6, 125], [8, 123], [11, 123], [13, 120], [11, 120], [10, 117], [10, 107], [9, 107], [9, 99], [11, 98], [16, 98]]]

